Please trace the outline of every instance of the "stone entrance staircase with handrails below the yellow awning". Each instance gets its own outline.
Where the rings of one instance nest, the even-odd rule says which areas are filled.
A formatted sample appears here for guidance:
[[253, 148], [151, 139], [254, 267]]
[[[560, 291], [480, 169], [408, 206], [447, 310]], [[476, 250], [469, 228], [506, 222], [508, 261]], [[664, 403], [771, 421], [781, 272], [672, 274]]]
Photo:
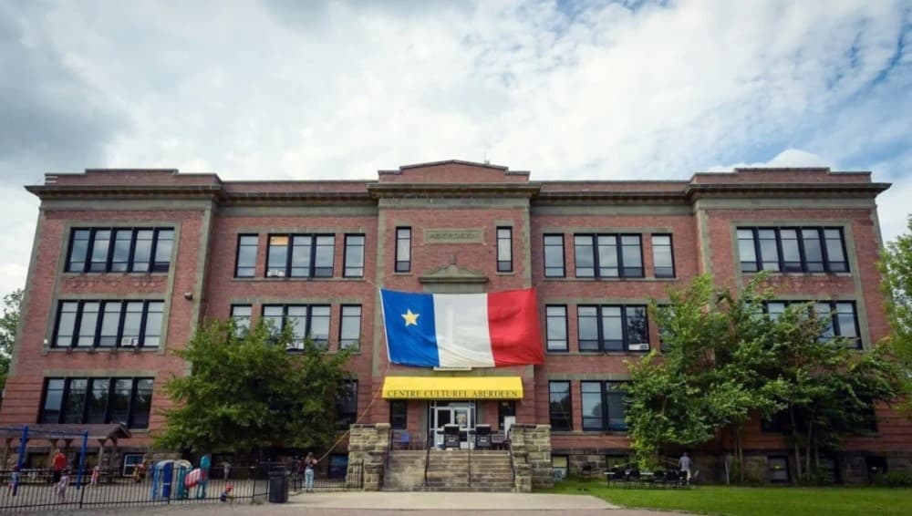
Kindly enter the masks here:
[[383, 490], [513, 491], [509, 451], [431, 449], [427, 455], [427, 486], [424, 485], [426, 454], [424, 449], [389, 451]]

